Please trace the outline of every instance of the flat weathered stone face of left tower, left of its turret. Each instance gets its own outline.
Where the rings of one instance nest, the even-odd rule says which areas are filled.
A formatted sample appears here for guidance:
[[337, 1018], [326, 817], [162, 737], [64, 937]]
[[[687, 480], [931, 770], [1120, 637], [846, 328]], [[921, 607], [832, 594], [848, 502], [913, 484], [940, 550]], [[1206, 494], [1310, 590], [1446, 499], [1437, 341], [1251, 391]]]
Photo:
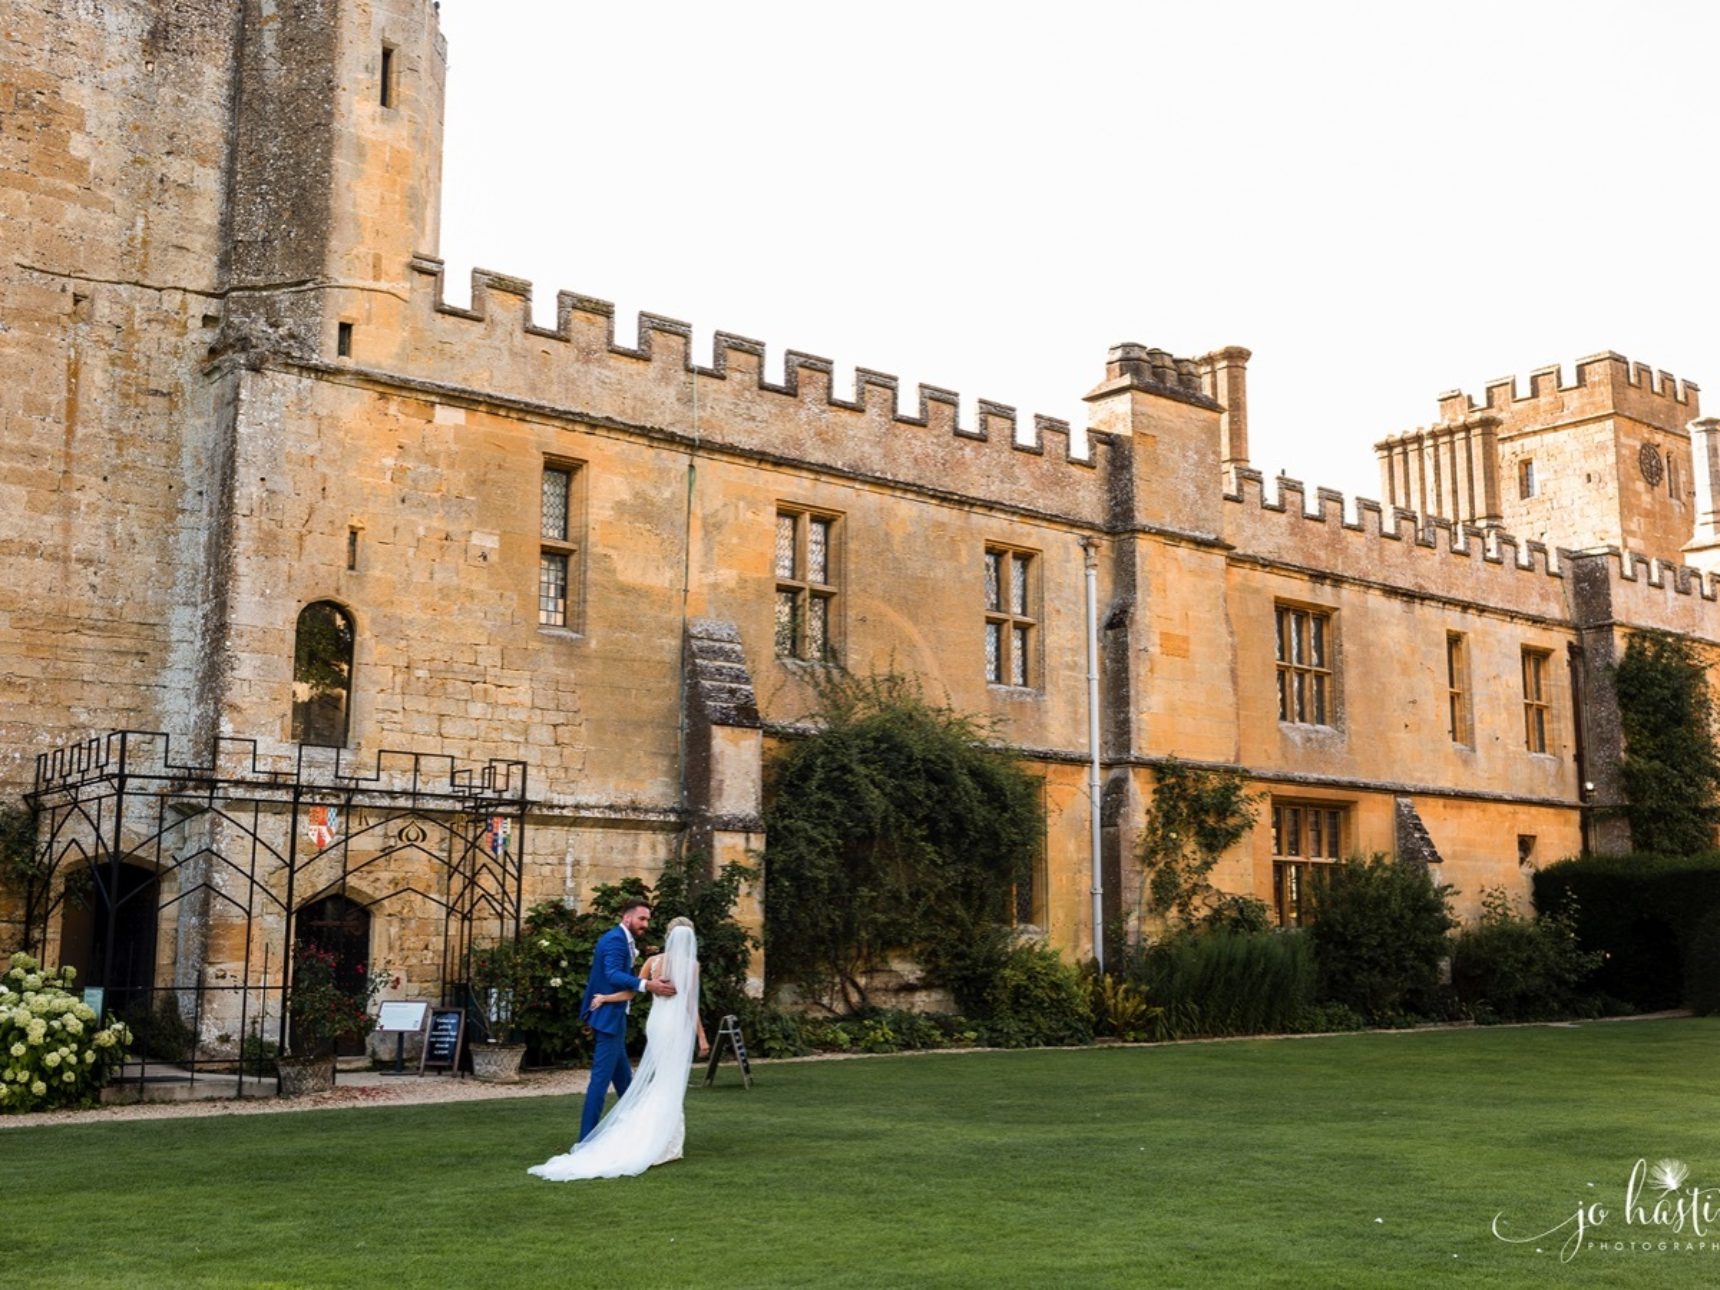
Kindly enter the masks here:
[[232, 7], [0, 17], [0, 788], [189, 717], [217, 390]]

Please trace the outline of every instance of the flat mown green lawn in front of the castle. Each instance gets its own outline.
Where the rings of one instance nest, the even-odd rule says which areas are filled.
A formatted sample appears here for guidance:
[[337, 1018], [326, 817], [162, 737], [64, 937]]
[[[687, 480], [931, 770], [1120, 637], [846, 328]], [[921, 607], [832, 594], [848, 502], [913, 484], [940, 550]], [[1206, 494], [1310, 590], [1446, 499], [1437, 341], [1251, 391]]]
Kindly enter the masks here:
[[[1713, 1285], [1507, 1245], [1679, 1158], [1720, 1018], [760, 1066], [688, 1158], [544, 1183], [578, 1099], [0, 1130], [7, 1285]], [[1594, 1187], [1589, 1187], [1594, 1183]], [[1658, 1195], [1658, 1192], [1653, 1192]], [[1720, 1190], [1711, 1194], [1720, 1211]], [[1720, 1219], [1720, 1214], [1717, 1214]], [[1717, 1221], [1720, 1226], [1720, 1221]]]

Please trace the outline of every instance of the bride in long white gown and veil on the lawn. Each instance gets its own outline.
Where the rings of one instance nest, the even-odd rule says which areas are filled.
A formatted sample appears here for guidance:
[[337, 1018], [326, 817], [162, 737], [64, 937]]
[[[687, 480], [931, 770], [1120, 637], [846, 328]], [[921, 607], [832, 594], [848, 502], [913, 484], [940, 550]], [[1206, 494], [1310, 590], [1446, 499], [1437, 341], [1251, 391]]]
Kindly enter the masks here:
[[[697, 1041], [700, 1056], [709, 1047], [703, 1022], [698, 1020], [698, 937], [690, 918], [669, 924], [662, 953], [645, 960], [640, 975], [674, 982], [676, 992], [652, 999], [650, 1017], [645, 1018], [645, 1056], [633, 1072], [633, 1084], [590, 1137], [526, 1173], [550, 1182], [619, 1178], [681, 1159], [693, 1044]], [[593, 1003], [628, 998], [631, 992], [621, 991], [599, 996]]]

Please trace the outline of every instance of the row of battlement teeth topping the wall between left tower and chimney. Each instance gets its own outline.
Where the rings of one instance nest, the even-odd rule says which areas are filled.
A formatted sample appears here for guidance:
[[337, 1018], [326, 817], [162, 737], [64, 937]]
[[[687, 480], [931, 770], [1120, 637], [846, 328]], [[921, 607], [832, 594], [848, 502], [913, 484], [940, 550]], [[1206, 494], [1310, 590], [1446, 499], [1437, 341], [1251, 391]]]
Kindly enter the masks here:
[[1017, 452], [1042, 456], [1056, 463], [1092, 468], [1094, 454], [1087, 435], [1072, 433], [1070, 423], [1056, 416], [1034, 415], [1025, 423], [1017, 409], [992, 399], [975, 402], [977, 415], [963, 423], [960, 396], [941, 385], [920, 384], [912, 411], [901, 409], [901, 384], [888, 373], [857, 366], [851, 397], [834, 389], [836, 365], [800, 349], [784, 349], [781, 378], [767, 375], [765, 344], [733, 332], [716, 332], [709, 363], [695, 363], [693, 329], [657, 313], [638, 315], [631, 344], [617, 341], [614, 304], [573, 291], [556, 294], [556, 325], [531, 322], [531, 284], [519, 277], [476, 268], [471, 273], [470, 306], [451, 304], [445, 298], [444, 265], [430, 256], [415, 256], [411, 268], [432, 287], [430, 311], [440, 318], [458, 318], [494, 327], [514, 322], [521, 341], [540, 337], [568, 346], [574, 363], [619, 359], [623, 363], [667, 365], [697, 378], [733, 382], [767, 396], [779, 396], [812, 408], [858, 413], [862, 418], [900, 428], [924, 428], [953, 439], [1006, 444]]

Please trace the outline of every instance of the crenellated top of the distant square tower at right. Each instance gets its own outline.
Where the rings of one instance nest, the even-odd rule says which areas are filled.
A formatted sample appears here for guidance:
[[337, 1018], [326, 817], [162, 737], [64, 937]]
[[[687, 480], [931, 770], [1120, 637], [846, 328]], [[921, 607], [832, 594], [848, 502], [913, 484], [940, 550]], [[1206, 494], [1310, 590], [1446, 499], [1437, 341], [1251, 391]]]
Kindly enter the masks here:
[[1565, 380], [1562, 365], [1553, 363], [1529, 373], [1527, 392], [1519, 392], [1512, 375], [1490, 380], [1479, 404], [1462, 390], [1440, 396], [1440, 416], [1447, 421], [1469, 416], [1477, 408], [1496, 413], [1505, 421], [1505, 433], [1601, 411], [1646, 415], [1656, 425], [1682, 430], [1684, 421], [1701, 415], [1696, 382], [1656, 372], [1648, 363], [1632, 363], [1610, 349], [1579, 358], [1572, 380]]

